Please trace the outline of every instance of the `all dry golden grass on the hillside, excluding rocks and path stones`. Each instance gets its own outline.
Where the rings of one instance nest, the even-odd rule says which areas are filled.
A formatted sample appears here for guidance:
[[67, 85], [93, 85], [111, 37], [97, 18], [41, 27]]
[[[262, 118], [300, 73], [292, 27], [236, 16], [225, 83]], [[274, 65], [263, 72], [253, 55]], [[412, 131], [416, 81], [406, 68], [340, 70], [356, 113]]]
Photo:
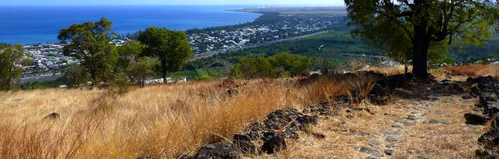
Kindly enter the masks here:
[[[494, 75], [496, 67], [454, 67], [443, 71], [450, 69], [459, 73], [468, 71]], [[370, 70], [394, 75], [403, 73], [404, 67]], [[302, 110], [323, 100], [331, 101], [332, 97], [340, 95], [367, 95], [366, 92], [372, 89], [375, 80], [366, 76], [336, 80], [320, 77], [315, 81], [283, 78], [186, 82], [153, 85], [143, 89], [131, 87], [125, 95], [89, 88], [1, 92], [0, 158], [137, 158], [142, 155], [178, 158], [195, 153], [203, 144], [229, 141], [233, 134], [245, 129], [247, 124], [261, 121], [276, 110]], [[231, 89], [237, 91], [228, 91]], [[445, 112], [450, 107], [448, 101], [457, 102], [458, 98], [459, 96], [445, 97], [445, 100], [433, 103], [443, 106], [432, 108], [436, 111], [429, 111]], [[403, 116], [407, 113], [404, 105], [416, 102], [410, 98], [400, 100], [395, 97], [393, 103], [387, 105], [378, 106], [365, 102], [356, 104], [355, 107], [368, 108], [377, 114], [361, 111], [356, 112], [353, 118], [340, 113], [322, 119], [324, 122], [312, 127], [312, 130], [325, 133], [327, 139], [317, 141], [310, 135], [304, 135], [299, 140], [288, 141], [291, 144], [289, 150], [274, 156], [259, 157], [321, 158], [357, 155], [357, 146], [370, 138], [345, 136], [345, 133], [376, 133], [393, 123], [386, 114]], [[469, 105], [463, 105], [452, 109], [455, 109], [453, 112], [462, 113], [470, 111], [469, 108]], [[45, 116], [50, 113], [58, 113], [61, 117], [46, 119]], [[442, 119], [456, 124], [463, 122], [455, 116], [445, 116]], [[342, 125], [345, 121], [347, 124]], [[430, 137], [438, 128], [432, 126], [417, 126], [411, 132], [418, 133], [421, 129]], [[481, 129], [469, 130], [472, 134], [462, 137], [460, 134], [463, 132], [456, 128], [459, 129], [441, 128], [441, 133], [453, 131], [445, 139], [452, 142], [442, 141], [439, 144], [457, 150], [457, 153], [439, 151], [441, 153], [436, 153], [437, 155], [472, 155], [466, 146], [456, 147], [455, 144], [473, 143], [474, 135], [482, 133]], [[421, 143], [426, 139], [403, 138], [407, 144], [420, 145], [411, 148], [410, 145], [401, 144], [400, 147], [404, 150], [424, 150], [425, 144], [429, 144]], [[431, 140], [434, 139], [427, 139], [428, 142]], [[410, 156], [407, 153], [395, 155], [400, 158]]]

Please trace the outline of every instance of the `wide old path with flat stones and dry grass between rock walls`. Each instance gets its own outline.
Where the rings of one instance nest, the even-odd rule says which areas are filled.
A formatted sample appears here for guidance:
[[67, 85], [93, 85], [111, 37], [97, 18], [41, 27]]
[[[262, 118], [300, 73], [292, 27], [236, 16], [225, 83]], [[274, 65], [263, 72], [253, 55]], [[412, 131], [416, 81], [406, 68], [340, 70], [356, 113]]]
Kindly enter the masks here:
[[484, 130], [464, 116], [477, 114], [477, 99], [448, 92], [452, 85], [398, 89], [384, 105], [361, 104], [321, 118], [313, 131], [325, 139], [302, 134], [286, 151], [248, 158], [472, 158]]

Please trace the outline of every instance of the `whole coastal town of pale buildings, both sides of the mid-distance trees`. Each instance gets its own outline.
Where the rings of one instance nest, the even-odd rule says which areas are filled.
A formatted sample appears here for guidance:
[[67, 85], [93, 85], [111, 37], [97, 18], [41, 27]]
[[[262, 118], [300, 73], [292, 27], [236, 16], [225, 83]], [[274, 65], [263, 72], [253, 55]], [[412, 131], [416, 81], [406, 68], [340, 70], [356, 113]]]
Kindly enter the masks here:
[[[332, 26], [344, 21], [343, 15], [264, 14], [253, 22], [186, 32], [196, 58], [202, 58], [228, 50], [332, 30]], [[112, 43], [121, 46], [127, 41], [136, 40], [135, 38], [117, 36]], [[80, 64], [81, 61], [72, 54], [63, 54], [65, 45], [67, 43], [61, 42], [24, 46], [26, 59], [23, 61], [26, 62], [22, 63], [24, 72], [21, 82], [25, 84], [57, 80], [63, 76], [68, 66]]]

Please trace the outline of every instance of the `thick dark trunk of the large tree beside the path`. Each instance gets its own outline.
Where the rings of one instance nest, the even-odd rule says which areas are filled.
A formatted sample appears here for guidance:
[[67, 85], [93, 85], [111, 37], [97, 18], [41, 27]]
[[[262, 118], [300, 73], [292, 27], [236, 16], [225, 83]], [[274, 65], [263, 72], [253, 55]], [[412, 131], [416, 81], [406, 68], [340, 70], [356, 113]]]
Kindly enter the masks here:
[[428, 49], [430, 39], [427, 38], [426, 26], [414, 26], [414, 37], [412, 39], [412, 73], [419, 77], [428, 77]]

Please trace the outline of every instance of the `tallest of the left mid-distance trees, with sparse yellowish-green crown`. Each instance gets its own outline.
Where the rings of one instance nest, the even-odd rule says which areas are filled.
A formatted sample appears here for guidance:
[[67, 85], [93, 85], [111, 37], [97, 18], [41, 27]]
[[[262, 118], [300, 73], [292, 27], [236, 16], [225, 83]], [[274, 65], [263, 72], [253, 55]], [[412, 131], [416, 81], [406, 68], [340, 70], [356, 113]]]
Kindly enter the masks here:
[[72, 51], [82, 60], [82, 65], [89, 71], [94, 84], [99, 78], [108, 78], [116, 66], [118, 54], [109, 39], [116, 35], [111, 30], [113, 22], [101, 18], [97, 22], [73, 24], [68, 29], [59, 31], [58, 39], [70, 40], [64, 48], [65, 55]]

